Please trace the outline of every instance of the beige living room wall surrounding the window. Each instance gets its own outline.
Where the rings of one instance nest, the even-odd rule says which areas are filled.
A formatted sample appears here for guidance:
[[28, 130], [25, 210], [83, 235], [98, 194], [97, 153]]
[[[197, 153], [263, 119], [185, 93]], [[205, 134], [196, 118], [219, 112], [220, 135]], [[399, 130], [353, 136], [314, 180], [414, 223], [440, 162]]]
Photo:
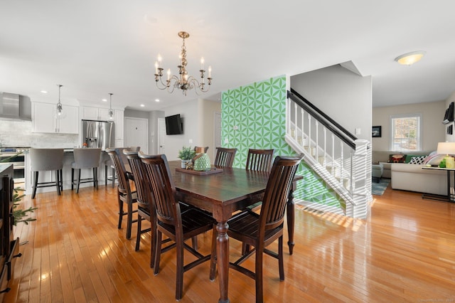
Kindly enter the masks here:
[[444, 101], [373, 108], [373, 125], [382, 127], [382, 137], [373, 138], [373, 150], [390, 150], [390, 115], [395, 114], [422, 114], [422, 150], [435, 150], [438, 142], [446, 140], [446, 127], [441, 123], [445, 112]]

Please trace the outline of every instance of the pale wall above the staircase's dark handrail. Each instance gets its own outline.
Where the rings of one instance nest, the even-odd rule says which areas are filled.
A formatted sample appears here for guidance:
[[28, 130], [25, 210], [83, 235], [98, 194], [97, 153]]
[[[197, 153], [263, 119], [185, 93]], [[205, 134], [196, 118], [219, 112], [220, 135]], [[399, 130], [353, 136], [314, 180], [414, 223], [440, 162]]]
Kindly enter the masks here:
[[291, 87], [356, 137], [371, 141], [371, 76], [333, 65], [291, 76]]

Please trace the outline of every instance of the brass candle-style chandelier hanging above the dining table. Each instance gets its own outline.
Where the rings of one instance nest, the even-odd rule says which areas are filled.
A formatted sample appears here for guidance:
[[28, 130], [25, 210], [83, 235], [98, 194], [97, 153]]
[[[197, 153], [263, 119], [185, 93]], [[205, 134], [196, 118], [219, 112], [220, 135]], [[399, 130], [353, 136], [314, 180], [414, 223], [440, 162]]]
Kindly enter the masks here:
[[178, 36], [183, 39], [182, 50], [178, 58], [180, 58], [180, 63], [177, 65], [178, 75], [171, 75], [171, 69], [167, 71], [167, 80], [163, 82], [163, 68], [161, 68], [161, 55], [158, 55], [158, 60], [155, 62], [155, 82], [156, 87], [160, 90], [168, 90], [169, 93], [173, 92], [175, 88], [182, 90], [183, 95], [186, 95], [188, 90], [194, 89], [196, 94], [200, 92], [208, 92], [209, 88], [206, 85], [212, 84], [212, 68], [208, 67], [208, 77], [207, 83], [205, 83], [205, 70], [204, 70], [204, 58], [200, 58], [200, 80], [196, 79], [193, 76], [188, 76], [188, 71], [186, 70], [186, 65], [188, 61], [186, 60], [186, 46], [185, 39], [190, 36], [186, 31], [178, 32]]

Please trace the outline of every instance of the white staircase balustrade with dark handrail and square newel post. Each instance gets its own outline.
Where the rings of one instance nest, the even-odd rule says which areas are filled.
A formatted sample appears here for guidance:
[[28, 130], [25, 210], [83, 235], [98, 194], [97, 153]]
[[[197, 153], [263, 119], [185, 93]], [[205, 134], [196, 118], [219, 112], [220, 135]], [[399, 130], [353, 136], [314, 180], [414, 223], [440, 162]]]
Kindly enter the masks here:
[[371, 146], [358, 139], [291, 89], [287, 94], [286, 142], [304, 153], [307, 166], [333, 188], [345, 203], [327, 208], [318, 201], [301, 201], [319, 211], [366, 218], [371, 196]]

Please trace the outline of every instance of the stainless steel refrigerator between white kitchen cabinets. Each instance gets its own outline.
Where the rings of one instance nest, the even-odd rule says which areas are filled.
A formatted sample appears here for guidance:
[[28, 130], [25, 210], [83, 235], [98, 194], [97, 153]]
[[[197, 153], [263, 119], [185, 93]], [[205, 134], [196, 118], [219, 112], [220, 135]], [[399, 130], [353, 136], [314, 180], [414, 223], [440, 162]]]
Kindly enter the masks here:
[[82, 120], [82, 146], [101, 148], [114, 146], [114, 122]]

